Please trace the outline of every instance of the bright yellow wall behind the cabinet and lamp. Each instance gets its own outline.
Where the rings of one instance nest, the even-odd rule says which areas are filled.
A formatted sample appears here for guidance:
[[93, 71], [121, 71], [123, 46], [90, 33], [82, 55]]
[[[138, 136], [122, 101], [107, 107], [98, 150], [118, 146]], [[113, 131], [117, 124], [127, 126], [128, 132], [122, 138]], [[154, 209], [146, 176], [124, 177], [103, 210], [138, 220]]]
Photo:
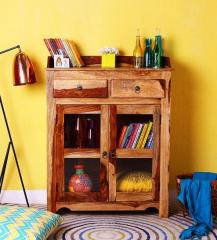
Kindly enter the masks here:
[[[0, 94], [28, 189], [46, 188], [46, 91], [48, 51], [43, 38], [75, 40], [83, 55], [116, 46], [131, 55], [136, 29], [145, 37], [160, 27], [175, 71], [172, 83], [171, 180], [177, 173], [217, 172], [216, 0], [1, 0], [0, 50], [21, 44], [38, 82], [12, 86], [16, 51], [0, 55]], [[0, 119], [2, 120], [2, 119]], [[0, 123], [0, 156], [6, 133]], [[19, 189], [15, 164], [6, 188]]]

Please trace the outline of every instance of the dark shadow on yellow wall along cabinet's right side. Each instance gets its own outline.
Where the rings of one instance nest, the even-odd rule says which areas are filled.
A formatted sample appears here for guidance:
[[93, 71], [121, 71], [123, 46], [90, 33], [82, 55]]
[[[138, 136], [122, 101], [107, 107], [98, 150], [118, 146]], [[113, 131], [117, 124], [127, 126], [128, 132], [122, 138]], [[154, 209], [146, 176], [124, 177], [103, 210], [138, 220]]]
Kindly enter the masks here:
[[176, 175], [193, 169], [194, 101], [192, 91], [196, 74], [184, 62], [172, 61], [171, 86], [171, 143], [170, 143], [170, 188], [174, 189]]

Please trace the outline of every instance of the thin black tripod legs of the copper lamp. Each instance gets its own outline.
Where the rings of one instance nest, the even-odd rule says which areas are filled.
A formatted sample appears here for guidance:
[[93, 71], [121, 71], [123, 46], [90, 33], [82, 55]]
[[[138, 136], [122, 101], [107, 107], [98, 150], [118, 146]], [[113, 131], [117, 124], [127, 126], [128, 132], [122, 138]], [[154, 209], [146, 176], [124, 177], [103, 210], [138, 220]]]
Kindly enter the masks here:
[[5, 176], [5, 170], [6, 170], [6, 167], [7, 167], [9, 152], [10, 152], [10, 149], [12, 148], [14, 158], [15, 158], [15, 162], [16, 162], [16, 166], [17, 166], [17, 170], [18, 170], [19, 177], [20, 177], [20, 181], [21, 181], [22, 188], [23, 188], [23, 193], [24, 193], [24, 196], [25, 196], [25, 199], [26, 199], [26, 204], [29, 207], [29, 202], [28, 202], [28, 198], [27, 198], [27, 195], [26, 195], [26, 190], [25, 190], [22, 175], [21, 175], [21, 172], [20, 172], [20, 167], [19, 167], [19, 164], [18, 164], [16, 151], [15, 151], [15, 148], [14, 148], [14, 143], [13, 143], [13, 139], [11, 137], [10, 128], [9, 128], [9, 125], [8, 125], [8, 121], [7, 121], [7, 117], [6, 117], [6, 113], [5, 113], [5, 110], [4, 110], [4, 106], [3, 106], [1, 96], [0, 96], [0, 105], [1, 105], [1, 110], [2, 110], [3, 116], [4, 116], [4, 121], [5, 121], [5, 125], [6, 125], [7, 132], [8, 132], [8, 137], [9, 137], [8, 147], [7, 147], [7, 151], [6, 151], [6, 154], [5, 154], [5, 159], [4, 159], [4, 163], [3, 163], [3, 166], [2, 166], [2, 170], [1, 170], [1, 176], [0, 176], [0, 194], [1, 194], [3, 180], [4, 180], [4, 176]]

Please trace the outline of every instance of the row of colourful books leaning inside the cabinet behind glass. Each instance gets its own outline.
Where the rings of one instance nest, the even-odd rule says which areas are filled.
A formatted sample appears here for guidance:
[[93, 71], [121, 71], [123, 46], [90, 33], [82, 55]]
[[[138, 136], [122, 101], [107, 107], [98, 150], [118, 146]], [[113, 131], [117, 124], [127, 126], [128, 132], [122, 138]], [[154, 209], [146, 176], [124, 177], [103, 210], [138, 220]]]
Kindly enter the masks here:
[[131, 123], [122, 127], [118, 140], [119, 148], [153, 148], [153, 122]]

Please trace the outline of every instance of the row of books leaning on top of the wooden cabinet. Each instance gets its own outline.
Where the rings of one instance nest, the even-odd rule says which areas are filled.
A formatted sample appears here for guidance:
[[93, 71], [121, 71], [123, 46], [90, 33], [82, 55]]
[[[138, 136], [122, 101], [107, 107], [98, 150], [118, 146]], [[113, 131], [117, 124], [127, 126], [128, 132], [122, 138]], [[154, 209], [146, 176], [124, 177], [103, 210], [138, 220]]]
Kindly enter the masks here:
[[84, 66], [84, 62], [73, 41], [60, 38], [49, 38], [44, 39], [44, 43], [52, 57], [54, 57], [54, 55], [63, 55], [69, 58], [71, 67]]

